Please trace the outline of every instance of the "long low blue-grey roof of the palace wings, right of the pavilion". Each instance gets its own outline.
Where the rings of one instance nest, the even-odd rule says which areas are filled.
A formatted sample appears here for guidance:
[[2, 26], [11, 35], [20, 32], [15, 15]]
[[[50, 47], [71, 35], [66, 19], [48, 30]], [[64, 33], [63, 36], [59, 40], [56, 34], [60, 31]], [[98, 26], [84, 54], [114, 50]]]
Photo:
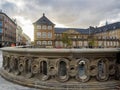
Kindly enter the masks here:
[[79, 28], [55, 28], [55, 33], [63, 33], [67, 30], [75, 30], [81, 34], [96, 34], [96, 33], [102, 33], [102, 32], [106, 32], [106, 31], [113, 31], [116, 29], [120, 29], [120, 22], [116, 22], [116, 23], [112, 23], [112, 24], [108, 24], [105, 26], [101, 26], [101, 27], [89, 27], [88, 29], [79, 29]]

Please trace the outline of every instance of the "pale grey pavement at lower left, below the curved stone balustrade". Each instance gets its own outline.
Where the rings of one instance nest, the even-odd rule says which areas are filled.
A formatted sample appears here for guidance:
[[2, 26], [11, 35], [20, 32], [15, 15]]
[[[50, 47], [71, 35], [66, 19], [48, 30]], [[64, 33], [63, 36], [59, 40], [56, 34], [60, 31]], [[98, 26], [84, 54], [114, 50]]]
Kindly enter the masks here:
[[[0, 68], [1, 67], [2, 67], [2, 52], [0, 51]], [[0, 76], [0, 90], [38, 90], [38, 89], [28, 88], [18, 84], [14, 84]]]

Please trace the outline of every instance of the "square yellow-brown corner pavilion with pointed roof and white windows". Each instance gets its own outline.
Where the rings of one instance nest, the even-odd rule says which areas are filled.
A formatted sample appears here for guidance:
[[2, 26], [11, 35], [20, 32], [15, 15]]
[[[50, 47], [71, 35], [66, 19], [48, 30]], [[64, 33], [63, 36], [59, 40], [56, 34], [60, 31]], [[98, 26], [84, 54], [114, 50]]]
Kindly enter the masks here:
[[43, 14], [34, 25], [34, 43], [40, 47], [54, 46], [55, 30], [54, 24]]

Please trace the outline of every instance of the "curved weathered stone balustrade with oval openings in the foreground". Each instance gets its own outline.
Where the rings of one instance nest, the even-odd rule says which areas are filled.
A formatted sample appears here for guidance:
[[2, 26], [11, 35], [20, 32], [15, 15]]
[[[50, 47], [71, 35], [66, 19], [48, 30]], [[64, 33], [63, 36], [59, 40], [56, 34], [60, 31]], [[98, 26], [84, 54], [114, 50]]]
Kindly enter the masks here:
[[74, 86], [82, 87], [83, 82], [88, 88], [93, 82], [95, 85], [104, 82], [104, 89], [108, 88], [109, 81], [113, 81], [112, 86], [115, 84], [113, 88], [120, 83], [119, 49], [3, 48], [2, 51], [1, 75], [8, 80], [12, 77], [11, 81], [23, 85], [50, 89], [54, 83], [52, 89], [73, 90]]

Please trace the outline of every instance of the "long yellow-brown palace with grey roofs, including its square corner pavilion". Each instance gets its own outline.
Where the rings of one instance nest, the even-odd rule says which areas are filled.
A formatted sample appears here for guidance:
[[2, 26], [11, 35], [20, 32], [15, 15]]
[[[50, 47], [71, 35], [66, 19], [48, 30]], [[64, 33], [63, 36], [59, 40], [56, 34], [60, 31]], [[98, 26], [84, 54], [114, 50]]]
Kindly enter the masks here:
[[46, 16], [37, 20], [34, 25], [34, 44], [39, 47], [65, 47], [63, 43], [64, 33], [71, 40], [71, 47], [119, 47], [120, 22], [106, 24], [101, 27], [80, 28], [56, 28]]

